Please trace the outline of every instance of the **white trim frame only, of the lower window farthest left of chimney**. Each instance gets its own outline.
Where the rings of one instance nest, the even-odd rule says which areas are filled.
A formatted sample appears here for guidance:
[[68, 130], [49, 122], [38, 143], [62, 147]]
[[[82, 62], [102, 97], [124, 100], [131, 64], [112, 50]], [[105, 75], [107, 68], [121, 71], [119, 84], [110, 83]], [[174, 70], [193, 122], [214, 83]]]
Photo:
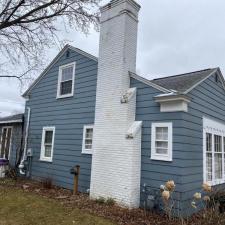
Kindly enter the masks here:
[[[52, 149], [51, 149], [51, 157], [45, 157], [45, 132], [46, 131], [53, 131], [52, 134]], [[40, 161], [45, 162], [52, 162], [53, 160], [53, 151], [54, 151], [54, 142], [55, 142], [55, 127], [43, 127], [42, 129], [42, 140], [41, 140], [41, 154], [40, 154]]]

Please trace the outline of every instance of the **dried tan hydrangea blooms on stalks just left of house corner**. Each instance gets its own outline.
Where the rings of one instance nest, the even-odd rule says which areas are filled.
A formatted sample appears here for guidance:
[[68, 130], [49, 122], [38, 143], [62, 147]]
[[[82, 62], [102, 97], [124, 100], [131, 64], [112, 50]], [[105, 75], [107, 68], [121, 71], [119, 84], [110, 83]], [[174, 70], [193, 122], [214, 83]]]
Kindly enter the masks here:
[[165, 211], [169, 219], [171, 219], [172, 217], [172, 210], [174, 207], [173, 193], [175, 187], [176, 185], [173, 180], [169, 180], [164, 185], [160, 186], [161, 196], [164, 205], [163, 210]]

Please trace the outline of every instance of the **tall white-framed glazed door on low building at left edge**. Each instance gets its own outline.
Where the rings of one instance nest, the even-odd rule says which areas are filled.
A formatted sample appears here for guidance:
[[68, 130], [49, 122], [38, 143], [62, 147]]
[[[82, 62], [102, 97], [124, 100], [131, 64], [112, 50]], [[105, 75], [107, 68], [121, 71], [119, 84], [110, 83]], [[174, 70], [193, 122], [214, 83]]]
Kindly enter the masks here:
[[12, 138], [12, 127], [2, 128], [0, 158], [9, 159]]

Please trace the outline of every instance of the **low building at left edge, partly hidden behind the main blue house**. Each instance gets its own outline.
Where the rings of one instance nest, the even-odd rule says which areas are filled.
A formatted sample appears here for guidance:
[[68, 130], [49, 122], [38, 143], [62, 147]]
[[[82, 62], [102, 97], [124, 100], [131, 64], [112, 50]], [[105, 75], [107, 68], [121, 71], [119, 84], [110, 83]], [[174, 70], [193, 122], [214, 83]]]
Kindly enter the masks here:
[[19, 160], [22, 133], [23, 114], [0, 118], [0, 158], [8, 159], [13, 167]]

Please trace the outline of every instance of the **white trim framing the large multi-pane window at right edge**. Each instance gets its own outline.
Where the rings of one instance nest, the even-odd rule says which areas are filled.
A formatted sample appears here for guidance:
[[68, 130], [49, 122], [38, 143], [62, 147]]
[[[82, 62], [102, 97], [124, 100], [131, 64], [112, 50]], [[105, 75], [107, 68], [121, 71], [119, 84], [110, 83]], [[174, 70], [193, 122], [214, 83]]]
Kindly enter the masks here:
[[[206, 133], [212, 134], [212, 181], [207, 181], [207, 168], [206, 168]], [[219, 135], [222, 138], [222, 179], [215, 179], [215, 144], [214, 135]], [[207, 117], [203, 117], [203, 181], [210, 185], [218, 185], [225, 183], [225, 170], [224, 170], [224, 137], [225, 137], [225, 124], [218, 122]]]

